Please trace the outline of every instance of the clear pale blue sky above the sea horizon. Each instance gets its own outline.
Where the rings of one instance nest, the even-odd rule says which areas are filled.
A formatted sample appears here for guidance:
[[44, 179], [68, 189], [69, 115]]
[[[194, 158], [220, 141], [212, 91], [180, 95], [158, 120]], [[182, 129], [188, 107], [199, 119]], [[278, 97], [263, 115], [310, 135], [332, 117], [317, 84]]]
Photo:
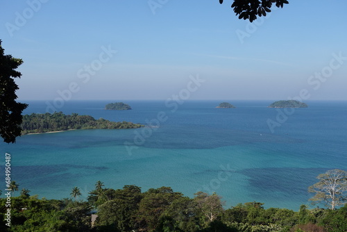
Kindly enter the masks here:
[[232, 1], [0, 3], [19, 100], [346, 100], [346, 0], [289, 0], [250, 23]]

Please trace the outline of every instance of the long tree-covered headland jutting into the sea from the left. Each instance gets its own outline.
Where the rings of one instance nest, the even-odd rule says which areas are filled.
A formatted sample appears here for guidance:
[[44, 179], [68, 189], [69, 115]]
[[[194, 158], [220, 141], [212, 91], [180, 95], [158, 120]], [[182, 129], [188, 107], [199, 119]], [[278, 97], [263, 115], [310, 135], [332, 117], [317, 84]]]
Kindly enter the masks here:
[[133, 122], [111, 122], [106, 119], [94, 119], [90, 115], [78, 115], [72, 113], [65, 115], [59, 113], [45, 113], [23, 115], [22, 135], [28, 133], [46, 133], [55, 131], [67, 131], [76, 129], [133, 129], [139, 128], [141, 124]]

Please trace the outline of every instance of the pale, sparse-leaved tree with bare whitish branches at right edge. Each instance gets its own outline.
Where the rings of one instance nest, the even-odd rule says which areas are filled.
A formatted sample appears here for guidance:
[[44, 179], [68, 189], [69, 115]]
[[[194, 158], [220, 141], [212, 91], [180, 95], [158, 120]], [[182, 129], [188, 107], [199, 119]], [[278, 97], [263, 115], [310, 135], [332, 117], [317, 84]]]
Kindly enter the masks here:
[[347, 192], [347, 172], [340, 169], [333, 169], [319, 174], [319, 182], [310, 186], [309, 192], [315, 192], [310, 199], [313, 203], [325, 201], [325, 206], [330, 206], [332, 210], [336, 206], [346, 204]]

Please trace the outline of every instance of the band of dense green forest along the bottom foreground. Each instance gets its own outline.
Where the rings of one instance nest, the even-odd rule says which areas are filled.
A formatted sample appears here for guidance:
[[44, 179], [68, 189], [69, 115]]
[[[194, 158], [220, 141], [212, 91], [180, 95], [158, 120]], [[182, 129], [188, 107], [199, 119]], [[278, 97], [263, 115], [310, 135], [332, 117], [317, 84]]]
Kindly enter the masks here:
[[[15, 187], [12, 189], [18, 190]], [[0, 199], [0, 231], [347, 231], [347, 205], [335, 210], [302, 205], [296, 212], [265, 209], [264, 204], [253, 201], [224, 209], [216, 193], [196, 192], [189, 198], [169, 187], [142, 192], [136, 185], [125, 185], [115, 190], [105, 188], [101, 181], [94, 190], [83, 193], [86, 196], [77, 187], [62, 200], [39, 199], [29, 193], [23, 189], [20, 196], [8, 197], [10, 226], [6, 225], [8, 199]]]

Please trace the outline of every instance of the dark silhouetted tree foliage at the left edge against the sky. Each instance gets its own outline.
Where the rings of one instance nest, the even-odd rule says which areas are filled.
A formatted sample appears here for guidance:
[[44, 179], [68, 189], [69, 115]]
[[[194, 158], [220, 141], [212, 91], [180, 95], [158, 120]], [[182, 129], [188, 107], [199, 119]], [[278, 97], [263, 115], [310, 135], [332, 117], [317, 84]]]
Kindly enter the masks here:
[[15, 92], [19, 88], [14, 78], [22, 76], [15, 69], [22, 63], [22, 59], [4, 54], [0, 40], [0, 136], [7, 143], [15, 142], [21, 135], [22, 111], [28, 106], [15, 101]]

